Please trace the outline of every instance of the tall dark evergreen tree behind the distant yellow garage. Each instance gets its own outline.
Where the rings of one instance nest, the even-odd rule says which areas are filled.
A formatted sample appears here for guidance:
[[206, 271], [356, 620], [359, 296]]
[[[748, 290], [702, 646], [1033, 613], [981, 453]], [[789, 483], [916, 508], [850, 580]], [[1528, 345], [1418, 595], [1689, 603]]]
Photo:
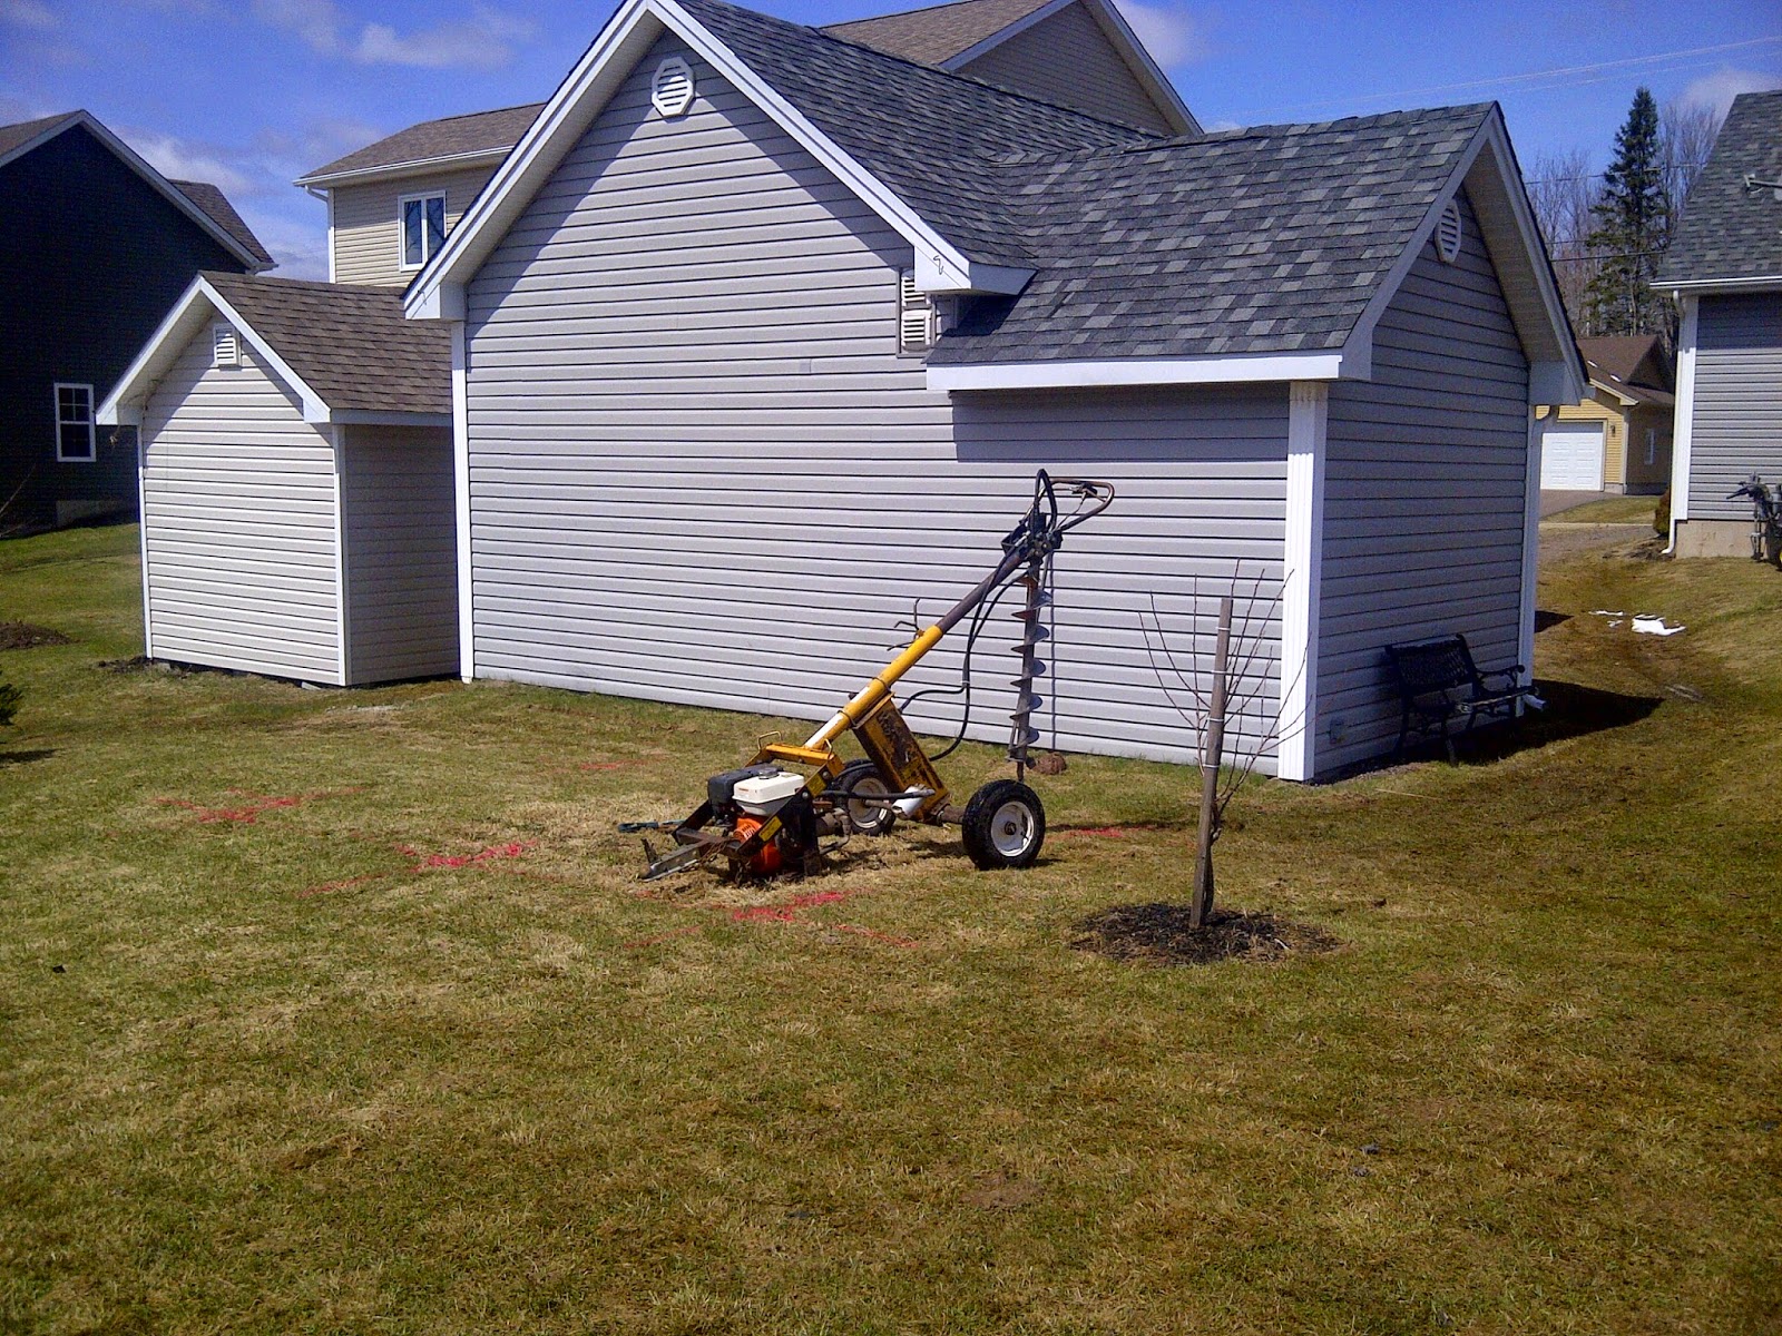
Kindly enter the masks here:
[[1670, 305], [1652, 290], [1652, 276], [1670, 240], [1664, 166], [1659, 109], [1652, 91], [1639, 89], [1614, 135], [1614, 162], [1602, 176], [1602, 200], [1590, 210], [1597, 223], [1590, 249], [1602, 257], [1586, 296], [1593, 333], [1670, 330]]

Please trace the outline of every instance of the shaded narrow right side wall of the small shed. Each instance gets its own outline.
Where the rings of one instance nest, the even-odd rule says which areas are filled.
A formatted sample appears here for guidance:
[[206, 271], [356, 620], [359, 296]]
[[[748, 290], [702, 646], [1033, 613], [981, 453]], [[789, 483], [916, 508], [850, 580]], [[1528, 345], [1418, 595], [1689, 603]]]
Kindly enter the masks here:
[[347, 682], [456, 673], [451, 429], [347, 428], [340, 515]]

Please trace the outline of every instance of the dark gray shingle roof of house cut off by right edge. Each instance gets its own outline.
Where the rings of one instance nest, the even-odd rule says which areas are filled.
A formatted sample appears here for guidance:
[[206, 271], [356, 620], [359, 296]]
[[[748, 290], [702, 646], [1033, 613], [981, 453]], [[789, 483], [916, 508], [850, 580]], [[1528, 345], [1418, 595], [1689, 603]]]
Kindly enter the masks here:
[[1782, 182], [1782, 91], [1732, 100], [1659, 264], [1659, 283], [1782, 274], [1782, 191], [1746, 191], [1746, 175]]

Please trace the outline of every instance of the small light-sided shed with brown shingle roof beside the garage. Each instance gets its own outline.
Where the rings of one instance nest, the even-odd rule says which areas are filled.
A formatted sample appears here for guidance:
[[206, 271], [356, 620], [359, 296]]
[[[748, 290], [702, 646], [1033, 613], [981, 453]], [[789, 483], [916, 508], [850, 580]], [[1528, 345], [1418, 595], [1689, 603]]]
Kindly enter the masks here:
[[451, 335], [376, 287], [201, 274], [103, 417], [143, 433], [148, 656], [458, 672]]

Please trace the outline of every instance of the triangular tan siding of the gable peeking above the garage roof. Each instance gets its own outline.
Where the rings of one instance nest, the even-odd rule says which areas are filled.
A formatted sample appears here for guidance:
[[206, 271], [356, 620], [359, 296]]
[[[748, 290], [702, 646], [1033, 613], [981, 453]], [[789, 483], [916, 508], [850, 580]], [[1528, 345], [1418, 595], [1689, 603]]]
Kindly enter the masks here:
[[1132, 68], [1082, 5], [1060, 9], [1018, 32], [959, 73], [1107, 121], [1173, 134]]

